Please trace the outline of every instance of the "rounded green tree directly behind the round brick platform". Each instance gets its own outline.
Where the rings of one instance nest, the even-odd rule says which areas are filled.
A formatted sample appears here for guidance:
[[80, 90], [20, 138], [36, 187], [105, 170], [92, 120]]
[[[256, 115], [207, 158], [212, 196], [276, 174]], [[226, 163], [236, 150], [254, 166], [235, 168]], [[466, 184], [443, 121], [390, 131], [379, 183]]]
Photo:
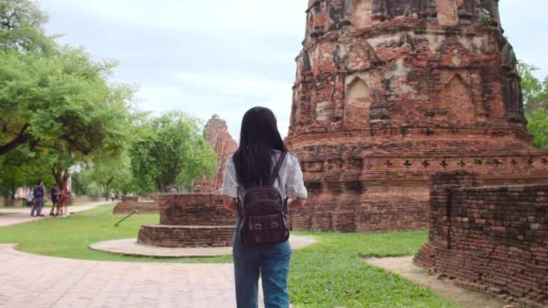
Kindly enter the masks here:
[[142, 126], [130, 156], [143, 193], [165, 192], [171, 185], [190, 187], [196, 179], [213, 175], [215, 151], [202, 137], [196, 118], [171, 112]]

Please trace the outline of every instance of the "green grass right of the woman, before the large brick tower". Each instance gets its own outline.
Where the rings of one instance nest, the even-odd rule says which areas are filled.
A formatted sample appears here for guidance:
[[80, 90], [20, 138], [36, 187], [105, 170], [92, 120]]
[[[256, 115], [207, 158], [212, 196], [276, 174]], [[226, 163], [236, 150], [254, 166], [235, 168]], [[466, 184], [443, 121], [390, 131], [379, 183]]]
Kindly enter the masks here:
[[297, 232], [319, 243], [298, 250], [289, 285], [295, 307], [456, 307], [441, 296], [363, 261], [414, 255], [427, 232]]

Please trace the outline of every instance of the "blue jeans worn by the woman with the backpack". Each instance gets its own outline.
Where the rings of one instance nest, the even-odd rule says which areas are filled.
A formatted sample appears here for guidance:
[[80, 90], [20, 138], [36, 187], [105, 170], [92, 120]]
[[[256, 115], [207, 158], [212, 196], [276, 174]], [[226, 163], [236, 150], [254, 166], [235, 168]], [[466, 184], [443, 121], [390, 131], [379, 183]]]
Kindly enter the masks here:
[[274, 245], [244, 245], [236, 228], [233, 259], [238, 308], [257, 308], [259, 276], [265, 307], [288, 308], [290, 258], [289, 241]]

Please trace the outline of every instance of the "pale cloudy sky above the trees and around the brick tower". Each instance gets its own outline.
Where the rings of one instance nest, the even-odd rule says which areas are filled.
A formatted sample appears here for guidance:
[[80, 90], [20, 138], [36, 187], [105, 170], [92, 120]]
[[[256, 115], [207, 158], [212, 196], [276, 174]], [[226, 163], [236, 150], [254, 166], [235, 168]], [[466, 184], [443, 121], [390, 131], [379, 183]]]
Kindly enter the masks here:
[[[295, 57], [307, 0], [40, 0], [51, 34], [115, 59], [114, 81], [138, 86], [141, 109], [178, 109], [205, 121], [218, 113], [238, 139], [255, 105], [276, 113], [286, 134]], [[548, 75], [548, 1], [500, 1], [517, 57]]]

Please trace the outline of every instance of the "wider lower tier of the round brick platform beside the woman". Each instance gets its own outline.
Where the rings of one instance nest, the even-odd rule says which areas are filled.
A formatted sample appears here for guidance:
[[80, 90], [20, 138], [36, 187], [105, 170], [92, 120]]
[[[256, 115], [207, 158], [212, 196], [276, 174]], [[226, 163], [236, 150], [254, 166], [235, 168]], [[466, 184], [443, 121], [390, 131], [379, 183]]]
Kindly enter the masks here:
[[143, 225], [137, 242], [165, 248], [230, 247], [234, 226]]

